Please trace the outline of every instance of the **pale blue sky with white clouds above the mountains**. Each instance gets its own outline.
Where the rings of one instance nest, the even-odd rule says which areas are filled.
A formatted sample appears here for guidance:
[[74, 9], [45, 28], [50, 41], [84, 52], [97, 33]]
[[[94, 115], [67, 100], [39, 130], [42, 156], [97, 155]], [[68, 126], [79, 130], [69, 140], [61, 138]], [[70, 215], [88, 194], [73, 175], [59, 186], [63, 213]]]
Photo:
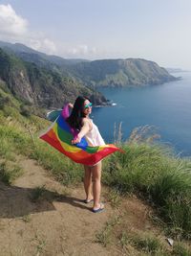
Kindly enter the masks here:
[[191, 70], [191, 0], [0, 0], [0, 40], [63, 58]]

